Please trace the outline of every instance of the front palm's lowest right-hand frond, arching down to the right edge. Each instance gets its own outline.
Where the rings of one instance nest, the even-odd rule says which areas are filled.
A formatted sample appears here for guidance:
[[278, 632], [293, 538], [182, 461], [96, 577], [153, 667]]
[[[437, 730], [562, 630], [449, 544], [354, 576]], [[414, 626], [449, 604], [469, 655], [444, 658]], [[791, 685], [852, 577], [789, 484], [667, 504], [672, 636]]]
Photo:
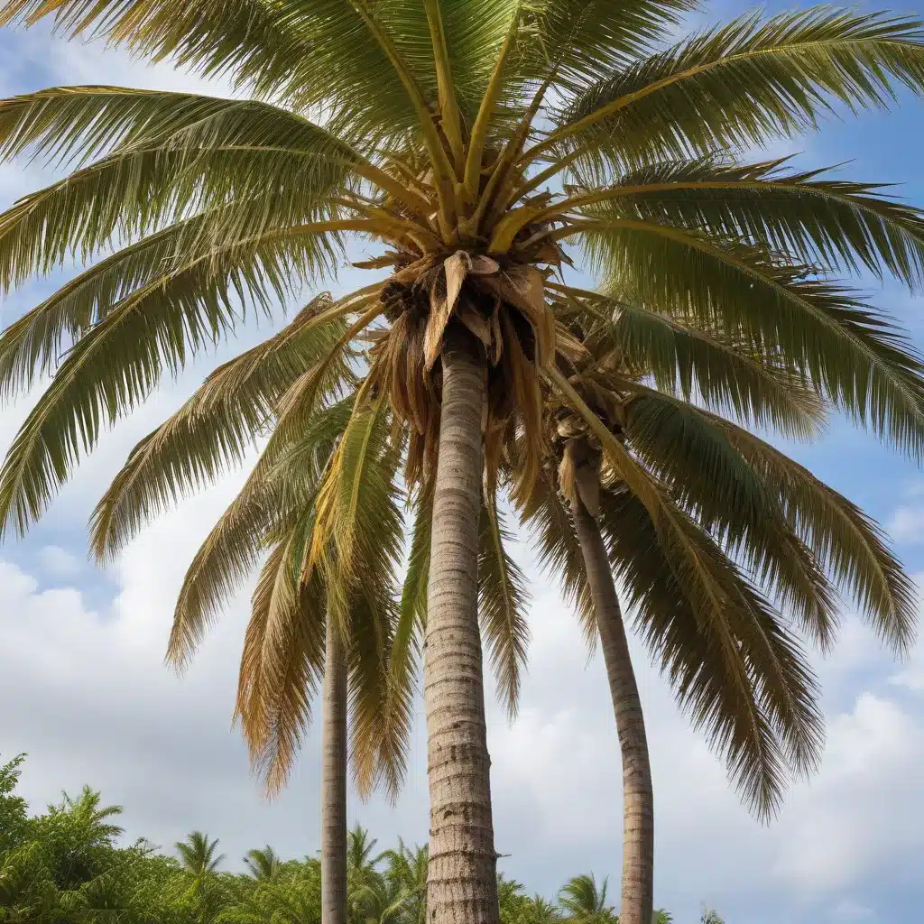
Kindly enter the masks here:
[[[924, 363], [850, 290], [798, 279], [760, 248], [669, 225], [614, 219], [587, 233], [592, 257], [631, 300], [779, 349], [858, 423], [914, 456], [924, 452]], [[756, 300], [760, 311], [749, 308]]]

